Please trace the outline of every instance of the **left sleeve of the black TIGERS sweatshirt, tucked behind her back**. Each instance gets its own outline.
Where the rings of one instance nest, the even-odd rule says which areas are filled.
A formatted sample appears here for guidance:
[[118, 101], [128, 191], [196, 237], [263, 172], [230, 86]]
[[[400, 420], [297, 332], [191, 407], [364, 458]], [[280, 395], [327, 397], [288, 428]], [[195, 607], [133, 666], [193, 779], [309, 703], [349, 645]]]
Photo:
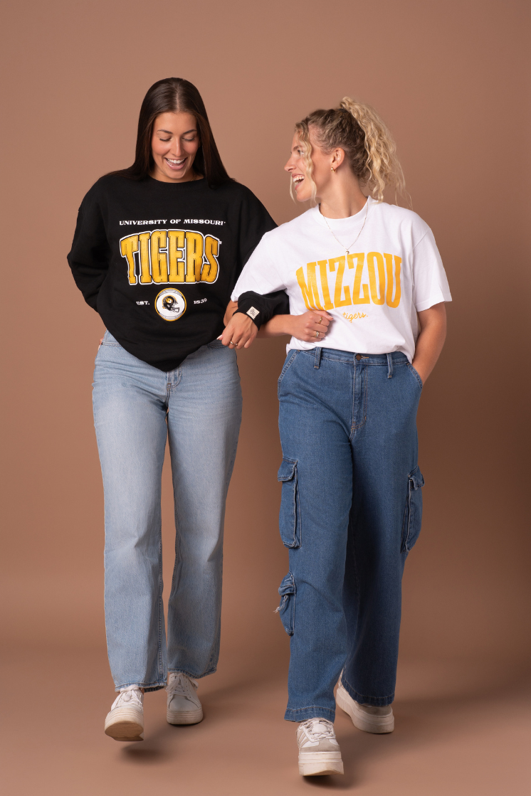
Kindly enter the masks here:
[[93, 195], [93, 189], [81, 202], [72, 249], [67, 259], [84, 300], [93, 310], [97, 310], [98, 293], [107, 276], [111, 249], [100, 204]]

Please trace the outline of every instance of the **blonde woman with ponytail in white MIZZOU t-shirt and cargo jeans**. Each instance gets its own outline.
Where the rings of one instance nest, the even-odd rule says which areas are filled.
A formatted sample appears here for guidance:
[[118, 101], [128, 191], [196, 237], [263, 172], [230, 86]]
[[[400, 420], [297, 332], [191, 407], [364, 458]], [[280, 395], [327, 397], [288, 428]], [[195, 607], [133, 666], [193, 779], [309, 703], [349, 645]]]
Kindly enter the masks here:
[[[416, 411], [451, 295], [428, 224], [383, 201], [404, 178], [372, 108], [346, 97], [306, 116], [285, 170], [297, 201], [317, 206], [264, 235], [232, 298], [290, 299], [260, 332], [291, 334], [279, 378], [285, 717], [299, 724], [300, 773], [341, 774], [336, 704], [365, 732], [394, 728], [401, 579], [424, 486]], [[256, 332], [240, 308], [222, 341], [248, 346]]]

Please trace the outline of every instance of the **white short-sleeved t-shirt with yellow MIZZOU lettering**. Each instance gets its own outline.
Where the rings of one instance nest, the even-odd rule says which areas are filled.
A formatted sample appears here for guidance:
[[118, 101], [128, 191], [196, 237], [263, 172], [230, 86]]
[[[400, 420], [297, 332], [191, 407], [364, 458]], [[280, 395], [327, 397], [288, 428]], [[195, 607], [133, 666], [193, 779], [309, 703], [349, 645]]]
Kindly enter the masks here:
[[291, 338], [288, 350], [321, 345], [356, 353], [402, 351], [411, 362], [416, 313], [451, 301], [428, 224], [411, 210], [368, 201], [366, 220], [365, 207], [349, 218], [326, 219], [343, 248], [314, 207], [266, 232], [241, 272], [234, 301], [245, 291], [285, 290], [292, 315], [326, 310], [333, 316], [326, 338]]

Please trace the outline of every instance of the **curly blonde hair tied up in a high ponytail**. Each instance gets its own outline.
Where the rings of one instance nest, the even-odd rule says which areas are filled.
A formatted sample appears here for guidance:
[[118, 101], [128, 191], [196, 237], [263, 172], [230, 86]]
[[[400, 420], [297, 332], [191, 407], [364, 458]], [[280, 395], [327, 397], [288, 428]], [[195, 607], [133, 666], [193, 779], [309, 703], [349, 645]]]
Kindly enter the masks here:
[[[395, 199], [398, 193], [405, 195], [404, 174], [396, 157], [396, 143], [385, 123], [370, 105], [343, 97], [339, 107], [314, 111], [295, 124], [306, 174], [313, 183], [312, 199], [315, 199], [316, 186], [311, 162], [310, 127], [318, 146], [325, 152], [338, 146], [345, 150], [353, 174], [374, 200], [384, 200], [386, 187], [395, 189]], [[290, 193], [295, 199], [292, 185], [291, 182]]]

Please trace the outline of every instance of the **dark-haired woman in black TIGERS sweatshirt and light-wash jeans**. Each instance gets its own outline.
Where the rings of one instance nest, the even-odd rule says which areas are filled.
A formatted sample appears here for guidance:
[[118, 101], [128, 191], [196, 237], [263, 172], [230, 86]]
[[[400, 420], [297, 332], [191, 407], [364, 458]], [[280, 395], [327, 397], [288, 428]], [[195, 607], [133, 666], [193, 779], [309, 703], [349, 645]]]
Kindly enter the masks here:
[[[133, 165], [98, 180], [80, 206], [68, 263], [107, 328], [93, 404], [107, 647], [119, 692], [105, 732], [116, 740], [143, 739], [143, 694], [166, 685], [170, 724], [202, 719], [197, 679], [217, 667], [225, 498], [241, 416], [237, 346], [217, 338], [244, 263], [274, 227], [251, 191], [228, 178], [197, 88], [173, 77], [143, 100]], [[257, 298], [242, 311], [267, 318], [276, 303]], [[167, 646], [166, 439], [177, 530]]]

